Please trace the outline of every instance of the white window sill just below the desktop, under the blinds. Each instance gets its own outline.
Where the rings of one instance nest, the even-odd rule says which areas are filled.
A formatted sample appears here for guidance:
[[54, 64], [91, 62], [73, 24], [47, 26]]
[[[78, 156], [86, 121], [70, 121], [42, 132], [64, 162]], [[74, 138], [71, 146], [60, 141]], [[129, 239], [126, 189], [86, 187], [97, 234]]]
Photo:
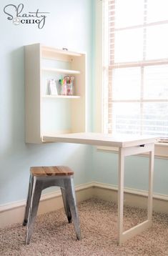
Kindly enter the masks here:
[[[112, 153], [118, 153], [119, 148], [118, 147], [97, 147], [97, 151], [99, 152], [112, 152]], [[144, 154], [138, 154], [139, 156], [146, 157], [149, 153]], [[168, 143], [163, 142], [157, 142], [154, 144], [154, 156], [157, 158], [168, 158]]]

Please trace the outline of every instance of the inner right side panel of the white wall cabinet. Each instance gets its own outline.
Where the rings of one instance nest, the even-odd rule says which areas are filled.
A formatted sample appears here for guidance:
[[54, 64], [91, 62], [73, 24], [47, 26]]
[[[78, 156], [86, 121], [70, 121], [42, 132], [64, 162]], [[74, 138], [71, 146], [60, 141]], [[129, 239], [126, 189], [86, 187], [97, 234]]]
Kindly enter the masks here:
[[71, 102], [71, 132], [87, 132], [86, 117], [86, 55], [74, 58], [72, 68], [80, 70], [76, 76], [76, 95], [81, 98]]

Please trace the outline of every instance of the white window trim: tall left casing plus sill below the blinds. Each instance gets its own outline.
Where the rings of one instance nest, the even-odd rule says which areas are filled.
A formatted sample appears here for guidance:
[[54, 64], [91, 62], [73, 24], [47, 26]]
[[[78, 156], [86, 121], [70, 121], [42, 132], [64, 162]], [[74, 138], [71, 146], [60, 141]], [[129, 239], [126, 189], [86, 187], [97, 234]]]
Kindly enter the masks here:
[[[103, 46], [104, 46], [104, 28], [103, 28], [103, 1], [95, 1], [95, 20], [94, 20], [94, 29], [95, 29], [95, 58], [93, 61], [94, 64], [94, 132], [103, 132], [103, 122], [104, 122], [104, 112], [103, 112], [103, 98], [104, 87], [103, 87]], [[98, 151], [103, 152], [118, 152], [116, 147], [97, 147]], [[154, 148], [154, 155], [157, 158], [168, 158], [168, 143], [157, 142]], [[144, 154], [142, 155], [144, 156]]]

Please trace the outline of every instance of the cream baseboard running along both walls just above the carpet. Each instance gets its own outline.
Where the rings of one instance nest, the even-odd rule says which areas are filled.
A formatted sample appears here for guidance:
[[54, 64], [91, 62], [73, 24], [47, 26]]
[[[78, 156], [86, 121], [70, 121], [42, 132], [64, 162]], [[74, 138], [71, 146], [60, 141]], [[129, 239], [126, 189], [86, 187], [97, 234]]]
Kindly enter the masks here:
[[[90, 182], [75, 187], [76, 200], [81, 202], [92, 197], [102, 200], [117, 202], [117, 187], [110, 184]], [[147, 207], [147, 192], [137, 189], [124, 189], [124, 204], [135, 207]], [[0, 227], [6, 227], [17, 222], [22, 222], [24, 218], [26, 201], [12, 202], [0, 205]], [[153, 209], [157, 212], [168, 213], [168, 195], [155, 195]], [[38, 215], [58, 210], [63, 207], [61, 191], [48, 193], [41, 196]]]

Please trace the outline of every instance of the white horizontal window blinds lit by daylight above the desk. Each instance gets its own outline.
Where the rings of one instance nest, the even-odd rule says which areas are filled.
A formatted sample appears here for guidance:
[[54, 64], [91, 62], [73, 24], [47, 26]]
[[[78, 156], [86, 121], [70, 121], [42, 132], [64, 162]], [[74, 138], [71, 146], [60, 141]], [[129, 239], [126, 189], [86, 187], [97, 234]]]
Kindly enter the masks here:
[[104, 132], [168, 137], [168, 1], [104, 0]]

